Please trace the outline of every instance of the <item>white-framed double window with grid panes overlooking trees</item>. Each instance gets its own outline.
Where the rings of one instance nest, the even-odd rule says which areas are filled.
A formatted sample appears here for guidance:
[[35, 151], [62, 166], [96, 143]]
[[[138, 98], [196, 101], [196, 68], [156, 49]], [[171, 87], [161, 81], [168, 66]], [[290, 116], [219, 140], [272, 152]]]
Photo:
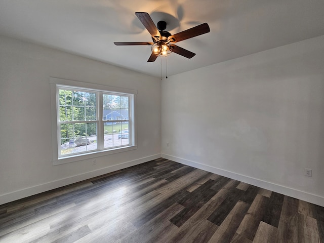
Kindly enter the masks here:
[[55, 87], [53, 164], [136, 148], [135, 91], [58, 78], [50, 82], [53, 96]]

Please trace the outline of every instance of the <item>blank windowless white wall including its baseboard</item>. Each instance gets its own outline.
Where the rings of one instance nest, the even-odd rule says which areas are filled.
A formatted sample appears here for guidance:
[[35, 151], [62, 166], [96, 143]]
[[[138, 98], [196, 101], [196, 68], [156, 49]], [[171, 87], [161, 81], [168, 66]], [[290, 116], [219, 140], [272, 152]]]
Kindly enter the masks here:
[[324, 36], [164, 79], [161, 120], [164, 157], [324, 206]]

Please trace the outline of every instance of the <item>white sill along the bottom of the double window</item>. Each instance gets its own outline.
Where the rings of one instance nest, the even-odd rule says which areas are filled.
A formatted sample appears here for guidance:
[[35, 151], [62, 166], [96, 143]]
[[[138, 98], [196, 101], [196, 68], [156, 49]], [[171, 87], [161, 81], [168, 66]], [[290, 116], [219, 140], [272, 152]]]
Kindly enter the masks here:
[[114, 154], [114, 153], [121, 153], [121, 152], [126, 152], [130, 150], [135, 150], [137, 149], [137, 146], [128, 146], [125, 148], [114, 148], [114, 149], [109, 149], [109, 150], [101, 150], [101, 151], [94, 151], [94, 152], [89, 152], [85, 154], [77, 154], [77, 155], [71, 155], [71, 156], [66, 156], [58, 159], [53, 159], [52, 163], [53, 166], [58, 166], [58, 165], [63, 165], [75, 161], [80, 161], [80, 160], [87, 160], [87, 159], [92, 159], [96, 157], [101, 157], [109, 154]]

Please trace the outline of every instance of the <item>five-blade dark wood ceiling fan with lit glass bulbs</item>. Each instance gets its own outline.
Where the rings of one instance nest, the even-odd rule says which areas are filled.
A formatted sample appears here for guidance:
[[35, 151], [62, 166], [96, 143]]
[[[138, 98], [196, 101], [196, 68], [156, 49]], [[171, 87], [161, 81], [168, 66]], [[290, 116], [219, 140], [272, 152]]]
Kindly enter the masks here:
[[114, 44], [116, 46], [152, 46], [152, 54], [147, 62], [154, 62], [158, 56], [168, 56], [171, 52], [186, 58], [192, 58], [196, 55], [195, 53], [176, 46], [174, 43], [210, 32], [208, 24], [204, 23], [177, 34], [171, 34], [165, 31], [167, 28], [167, 23], [165, 21], [158, 21], [156, 27], [148, 13], [136, 12], [135, 15], [151, 34], [153, 42], [114, 42]]

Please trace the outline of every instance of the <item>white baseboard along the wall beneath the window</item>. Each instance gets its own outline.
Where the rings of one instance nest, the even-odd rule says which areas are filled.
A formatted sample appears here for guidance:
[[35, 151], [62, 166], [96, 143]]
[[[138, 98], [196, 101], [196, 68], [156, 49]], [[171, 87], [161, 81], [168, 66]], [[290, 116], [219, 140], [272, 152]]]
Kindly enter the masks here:
[[87, 180], [96, 176], [101, 176], [113, 171], [117, 171], [117, 170], [121, 170], [121, 169], [125, 169], [131, 166], [135, 166], [135, 165], [139, 165], [142, 163], [145, 163], [147, 161], [153, 160], [153, 159], [157, 159], [160, 158], [161, 154], [154, 154], [154, 155], [150, 155], [147, 157], [143, 157], [143, 158], [139, 158], [139, 159], [135, 159], [135, 160], [131, 160], [131, 161], [127, 161], [124, 163], [120, 163], [117, 165], [113, 165], [113, 166], [108, 166], [105, 168], [101, 168], [99, 170], [95, 170], [95, 171], [90, 171], [90, 172], [86, 172], [83, 174], [79, 174], [79, 175], [75, 175], [75, 176], [71, 176], [71, 177], [67, 177], [67, 178], [63, 178], [63, 179], [59, 179], [56, 181], [51, 181], [48, 183], [44, 183], [41, 185], [36, 185], [36, 186], [32, 186], [32, 187], [28, 187], [28, 188], [24, 188], [22, 190], [18, 190], [18, 191], [14, 191], [14, 192], [10, 192], [7, 194], [3, 194], [0, 195], [0, 205], [9, 203], [10, 201], [14, 201], [14, 200], [18, 200], [27, 196], [31, 196], [31, 195], [35, 195], [41, 192], [45, 192], [45, 191], [49, 191], [52, 189], [56, 189], [59, 188], [61, 186], [66, 186], [75, 182], [79, 182], [79, 181], [83, 181], [83, 180]]

